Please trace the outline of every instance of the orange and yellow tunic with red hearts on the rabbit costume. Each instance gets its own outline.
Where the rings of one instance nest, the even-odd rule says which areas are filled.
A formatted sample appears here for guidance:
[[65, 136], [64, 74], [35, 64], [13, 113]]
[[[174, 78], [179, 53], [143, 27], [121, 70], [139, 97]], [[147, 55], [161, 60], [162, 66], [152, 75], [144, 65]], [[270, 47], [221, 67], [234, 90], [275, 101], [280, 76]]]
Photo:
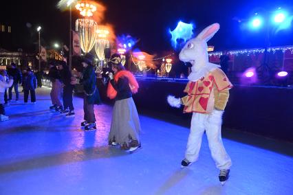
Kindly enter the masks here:
[[181, 99], [184, 113], [210, 113], [214, 108], [224, 110], [231, 88], [232, 84], [219, 68], [196, 82], [189, 81], [184, 89], [188, 95]]

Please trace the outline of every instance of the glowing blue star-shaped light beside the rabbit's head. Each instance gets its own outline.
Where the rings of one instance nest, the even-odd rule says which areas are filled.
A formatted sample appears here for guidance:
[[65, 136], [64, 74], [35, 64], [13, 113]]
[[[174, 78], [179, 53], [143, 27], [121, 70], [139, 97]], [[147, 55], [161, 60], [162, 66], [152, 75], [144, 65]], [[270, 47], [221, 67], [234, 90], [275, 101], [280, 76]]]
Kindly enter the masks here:
[[172, 35], [172, 45], [173, 47], [176, 47], [178, 39], [182, 38], [184, 42], [186, 42], [193, 36], [193, 25], [188, 23], [182, 23], [182, 21], [180, 21], [175, 30], [170, 30], [170, 33]]

